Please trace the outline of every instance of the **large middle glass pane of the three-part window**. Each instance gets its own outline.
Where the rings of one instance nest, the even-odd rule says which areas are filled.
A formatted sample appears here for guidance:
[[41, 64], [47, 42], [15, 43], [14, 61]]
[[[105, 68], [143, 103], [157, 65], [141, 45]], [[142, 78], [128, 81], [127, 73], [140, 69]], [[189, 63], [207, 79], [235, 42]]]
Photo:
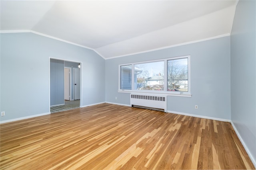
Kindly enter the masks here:
[[135, 64], [134, 89], [164, 90], [164, 61]]

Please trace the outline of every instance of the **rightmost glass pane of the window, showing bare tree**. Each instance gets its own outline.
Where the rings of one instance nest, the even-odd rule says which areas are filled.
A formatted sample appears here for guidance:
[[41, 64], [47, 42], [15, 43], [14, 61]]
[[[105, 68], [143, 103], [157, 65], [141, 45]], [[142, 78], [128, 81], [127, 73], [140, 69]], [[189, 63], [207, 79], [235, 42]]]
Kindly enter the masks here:
[[188, 92], [188, 58], [167, 61], [167, 90]]

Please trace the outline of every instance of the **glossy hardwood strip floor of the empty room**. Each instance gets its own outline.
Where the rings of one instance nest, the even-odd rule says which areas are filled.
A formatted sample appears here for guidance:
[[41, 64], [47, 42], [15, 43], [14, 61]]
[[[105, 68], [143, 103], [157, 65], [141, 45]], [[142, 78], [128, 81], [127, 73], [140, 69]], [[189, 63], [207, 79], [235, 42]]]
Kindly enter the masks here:
[[0, 169], [255, 169], [230, 123], [100, 104], [0, 125]]

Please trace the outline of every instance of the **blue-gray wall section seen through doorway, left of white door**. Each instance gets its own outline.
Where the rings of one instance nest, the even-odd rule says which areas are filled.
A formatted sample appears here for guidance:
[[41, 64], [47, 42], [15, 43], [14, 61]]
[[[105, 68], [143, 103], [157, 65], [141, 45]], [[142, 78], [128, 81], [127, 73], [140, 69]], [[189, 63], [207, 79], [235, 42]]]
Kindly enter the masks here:
[[50, 59], [50, 106], [64, 104], [64, 61]]

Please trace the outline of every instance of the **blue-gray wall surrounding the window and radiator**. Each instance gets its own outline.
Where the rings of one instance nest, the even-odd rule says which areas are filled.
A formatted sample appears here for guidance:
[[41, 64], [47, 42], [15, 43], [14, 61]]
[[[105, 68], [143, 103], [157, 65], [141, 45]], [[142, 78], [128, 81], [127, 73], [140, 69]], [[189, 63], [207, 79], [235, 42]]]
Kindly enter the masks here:
[[167, 110], [230, 120], [230, 36], [106, 60], [106, 102], [130, 105], [129, 94], [118, 93], [118, 64], [184, 55], [191, 55], [192, 97], [168, 96]]

